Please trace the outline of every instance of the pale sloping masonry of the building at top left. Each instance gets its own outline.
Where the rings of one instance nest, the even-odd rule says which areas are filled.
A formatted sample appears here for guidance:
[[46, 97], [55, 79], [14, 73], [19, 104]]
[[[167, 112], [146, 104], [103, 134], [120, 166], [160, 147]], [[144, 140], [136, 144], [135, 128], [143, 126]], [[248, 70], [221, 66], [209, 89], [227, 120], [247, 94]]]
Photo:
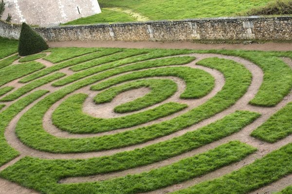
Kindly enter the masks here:
[[60, 23], [101, 13], [97, 0], [4, 0], [3, 18], [12, 15], [12, 23], [38, 26]]

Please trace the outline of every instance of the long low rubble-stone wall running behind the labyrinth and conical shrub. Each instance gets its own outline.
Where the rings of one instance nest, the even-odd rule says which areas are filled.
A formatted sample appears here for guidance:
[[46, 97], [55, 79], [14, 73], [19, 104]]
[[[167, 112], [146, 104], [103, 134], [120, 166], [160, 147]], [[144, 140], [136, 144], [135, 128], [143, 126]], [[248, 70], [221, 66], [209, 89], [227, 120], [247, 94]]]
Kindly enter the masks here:
[[[292, 17], [224, 17], [35, 28], [47, 41], [292, 40]], [[0, 36], [19, 26], [0, 22]]]

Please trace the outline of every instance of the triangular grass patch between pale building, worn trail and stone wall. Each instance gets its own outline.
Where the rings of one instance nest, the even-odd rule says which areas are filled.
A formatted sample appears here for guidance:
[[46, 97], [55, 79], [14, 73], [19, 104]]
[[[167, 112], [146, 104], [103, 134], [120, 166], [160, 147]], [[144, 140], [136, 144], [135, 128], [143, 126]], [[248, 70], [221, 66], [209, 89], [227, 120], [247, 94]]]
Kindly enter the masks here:
[[94, 23], [114, 23], [114, 22], [128, 22], [135, 21], [128, 14], [122, 12], [116, 12], [112, 10], [101, 9], [101, 14], [96, 14], [93, 16], [82, 17], [63, 25], [79, 25], [79, 24], [94, 24]]

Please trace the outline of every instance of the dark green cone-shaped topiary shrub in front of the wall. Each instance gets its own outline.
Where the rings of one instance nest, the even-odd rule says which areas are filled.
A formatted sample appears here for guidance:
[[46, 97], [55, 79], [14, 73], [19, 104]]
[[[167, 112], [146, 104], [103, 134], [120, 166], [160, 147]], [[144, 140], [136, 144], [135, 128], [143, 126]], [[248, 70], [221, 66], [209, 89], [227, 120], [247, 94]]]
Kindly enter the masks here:
[[29, 25], [22, 23], [18, 53], [20, 56], [36, 54], [43, 50], [49, 49], [44, 39], [37, 34]]

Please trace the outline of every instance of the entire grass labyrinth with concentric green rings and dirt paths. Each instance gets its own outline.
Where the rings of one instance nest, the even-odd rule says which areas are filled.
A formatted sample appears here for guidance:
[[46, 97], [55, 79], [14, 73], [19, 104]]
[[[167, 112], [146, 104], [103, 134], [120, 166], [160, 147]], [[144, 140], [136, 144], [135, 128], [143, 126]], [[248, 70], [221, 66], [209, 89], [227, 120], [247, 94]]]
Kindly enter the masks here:
[[248, 194], [273, 184], [291, 192], [292, 52], [51, 48], [20, 58], [12, 48], [0, 56], [0, 177], [23, 189]]

